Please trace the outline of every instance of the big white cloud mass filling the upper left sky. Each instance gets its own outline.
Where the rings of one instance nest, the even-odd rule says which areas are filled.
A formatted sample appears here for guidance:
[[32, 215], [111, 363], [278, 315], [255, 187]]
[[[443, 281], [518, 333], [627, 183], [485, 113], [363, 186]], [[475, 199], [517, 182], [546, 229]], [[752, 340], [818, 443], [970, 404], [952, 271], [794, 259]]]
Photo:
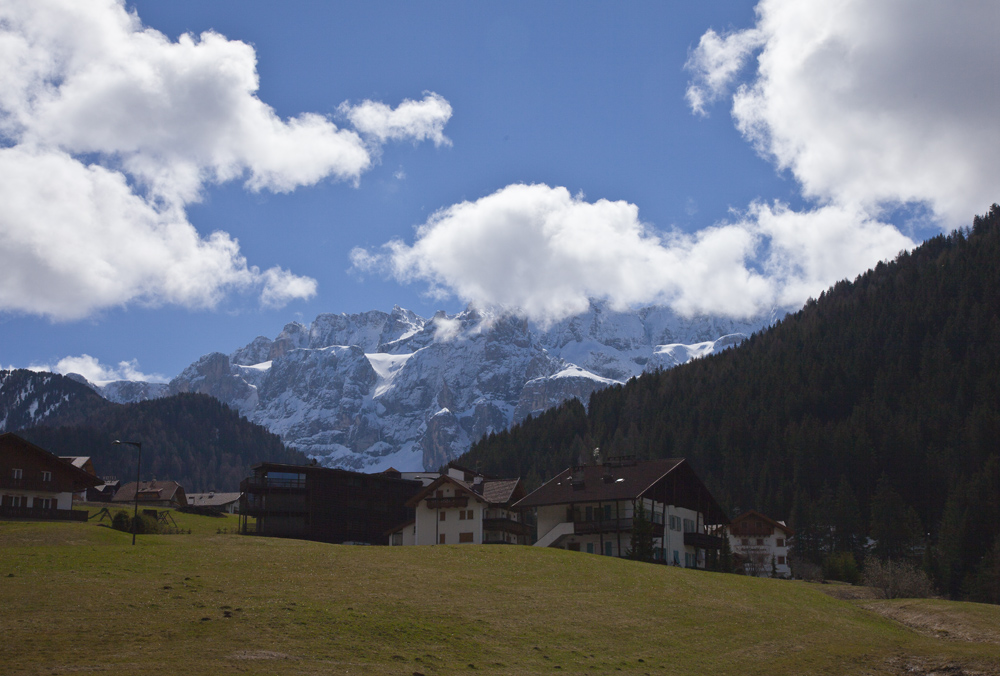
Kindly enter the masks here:
[[[208, 184], [356, 183], [375, 161], [372, 139], [312, 113], [282, 120], [257, 88], [250, 45], [171, 41], [121, 0], [0, 4], [0, 311], [76, 319], [129, 302], [212, 307], [233, 290], [265, 306], [314, 295], [315, 280], [248, 266], [185, 213]], [[446, 141], [436, 94], [365, 106], [387, 116], [384, 134], [363, 130], [378, 142]]]

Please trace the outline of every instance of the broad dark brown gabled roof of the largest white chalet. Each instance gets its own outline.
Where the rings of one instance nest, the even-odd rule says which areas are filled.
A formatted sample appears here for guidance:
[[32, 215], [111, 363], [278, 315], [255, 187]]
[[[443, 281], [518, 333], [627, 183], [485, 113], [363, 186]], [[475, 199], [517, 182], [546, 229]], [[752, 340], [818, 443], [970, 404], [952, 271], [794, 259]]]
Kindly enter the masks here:
[[535, 489], [515, 507], [614, 502], [652, 498], [699, 509], [707, 523], [728, 523], [725, 512], [687, 460], [665, 458], [567, 468]]

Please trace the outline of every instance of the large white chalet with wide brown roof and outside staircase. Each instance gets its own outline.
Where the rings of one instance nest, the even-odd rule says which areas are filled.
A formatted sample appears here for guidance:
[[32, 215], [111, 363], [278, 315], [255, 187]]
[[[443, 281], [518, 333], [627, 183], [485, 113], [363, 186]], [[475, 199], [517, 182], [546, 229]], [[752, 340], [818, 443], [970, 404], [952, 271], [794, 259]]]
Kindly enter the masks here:
[[640, 503], [653, 527], [654, 560], [704, 568], [706, 550], [722, 547], [706, 531], [729, 520], [683, 458], [572, 467], [515, 507], [536, 510], [536, 547], [626, 556]]

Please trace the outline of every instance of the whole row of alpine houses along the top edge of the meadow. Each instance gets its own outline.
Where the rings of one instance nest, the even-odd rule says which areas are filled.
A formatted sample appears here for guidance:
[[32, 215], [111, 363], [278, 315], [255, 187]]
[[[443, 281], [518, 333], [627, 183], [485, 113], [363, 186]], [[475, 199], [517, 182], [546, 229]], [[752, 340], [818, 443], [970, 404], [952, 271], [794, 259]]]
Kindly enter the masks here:
[[[683, 458], [608, 458], [559, 472], [528, 493], [520, 478], [450, 463], [440, 472], [366, 474], [260, 463], [240, 492], [187, 494], [176, 481], [118, 485], [90, 458], [58, 457], [16, 434], [0, 435], [0, 518], [86, 520], [74, 498], [144, 508], [238, 513], [240, 532], [389, 546], [497, 544], [627, 556], [639, 524], [652, 559], [705, 568], [732, 551], [748, 575], [790, 577], [784, 522], [755, 511], [730, 520]], [[728, 538], [728, 542], [724, 542]]]

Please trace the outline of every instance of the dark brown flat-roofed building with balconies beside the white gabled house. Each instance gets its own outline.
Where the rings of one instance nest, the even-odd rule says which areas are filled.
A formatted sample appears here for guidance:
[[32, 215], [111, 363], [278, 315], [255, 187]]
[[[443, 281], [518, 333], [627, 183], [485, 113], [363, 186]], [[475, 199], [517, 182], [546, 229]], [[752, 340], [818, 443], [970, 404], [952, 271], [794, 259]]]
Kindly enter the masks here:
[[320, 542], [389, 544], [389, 529], [413, 519], [406, 502], [423, 487], [398, 472], [270, 462], [252, 470], [240, 483], [240, 531]]

